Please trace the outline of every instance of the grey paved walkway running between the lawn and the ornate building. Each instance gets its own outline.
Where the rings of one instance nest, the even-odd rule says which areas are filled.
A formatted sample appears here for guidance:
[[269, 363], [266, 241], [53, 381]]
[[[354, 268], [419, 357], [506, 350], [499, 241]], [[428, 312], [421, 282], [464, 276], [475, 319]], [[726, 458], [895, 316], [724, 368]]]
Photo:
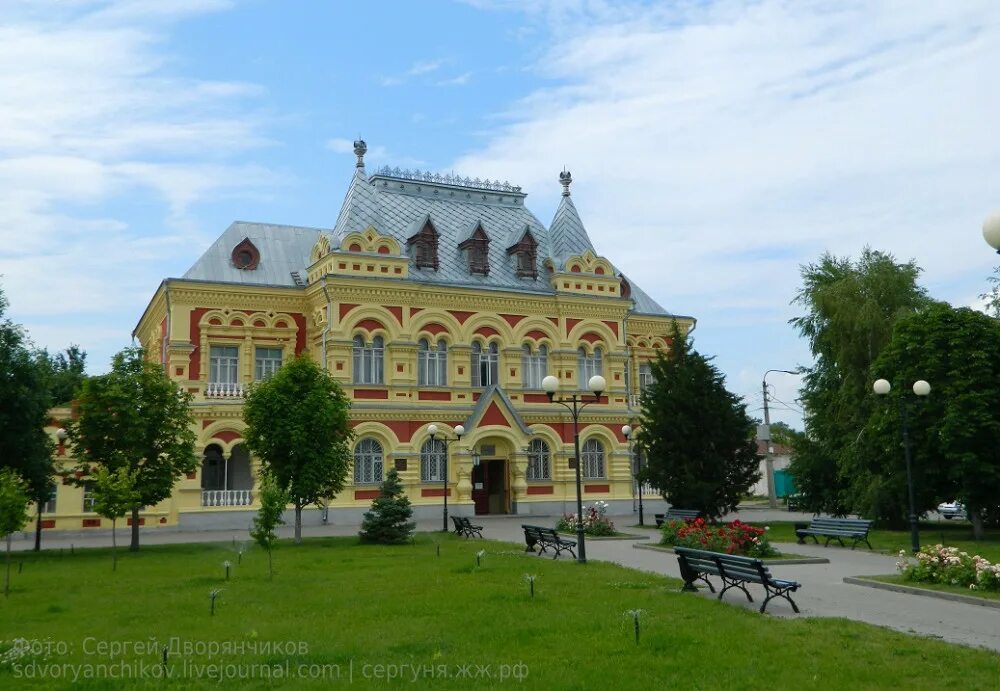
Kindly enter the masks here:
[[[809, 518], [806, 514], [802, 516], [806, 520]], [[754, 509], [727, 516], [728, 520], [733, 518], [755, 522], [779, 519], [787, 521], [796, 518], [796, 514], [790, 514], [787, 511]], [[523, 543], [524, 533], [521, 530], [521, 523], [542, 522], [548, 524], [551, 520], [538, 516], [480, 516], [476, 522], [484, 526], [483, 533], [490, 539]], [[612, 517], [612, 520], [619, 526], [634, 525], [636, 522], [633, 515], [615, 516]], [[422, 531], [440, 530], [441, 522], [440, 520], [420, 521], [417, 528]], [[636, 534], [644, 532], [638, 528], [628, 530]], [[331, 524], [305, 526], [302, 532], [306, 537], [315, 537], [356, 535], [357, 531], [357, 525]], [[290, 536], [291, 529], [286, 526], [282, 529], [281, 534], [282, 536]], [[654, 530], [649, 530], [648, 534], [653, 540], [657, 537]], [[229, 542], [233, 538], [247, 540], [248, 536], [246, 531], [235, 530], [190, 532], [146, 530], [142, 535], [143, 544]], [[119, 542], [127, 543], [127, 539], [126, 531], [120, 530]], [[73, 535], [47, 533], [44, 536], [43, 547], [45, 549], [68, 549], [70, 545], [77, 548], [106, 547], [109, 541], [108, 531]], [[591, 540], [587, 542], [587, 558], [610, 561], [622, 566], [680, 578], [677, 559], [673, 555], [635, 549], [634, 544], [634, 541], [631, 540]], [[16, 550], [31, 549], [31, 546], [30, 536], [26, 536], [24, 539], [15, 539], [13, 542], [13, 547]], [[769, 615], [844, 617], [907, 633], [941, 638], [952, 643], [1000, 651], [1000, 609], [875, 590], [846, 584], [843, 581], [845, 576], [895, 573], [895, 557], [872, 553], [865, 549], [852, 551], [840, 547], [824, 548], [815, 545], [779, 544], [778, 548], [795, 554], [826, 557], [830, 563], [776, 566], [774, 572], [779, 578], [789, 578], [802, 584], [802, 588], [794, 595], [795, 602], [802, 613], [800, 615], [794, 614], [787, 603], [779, 599], [772, 601], [768, 606]], [[755, 599], [758, 599], [756, 592], [751, 592], [754, 593]], [[714, 597], [707, 592], [704, 596]], [[692, 595], [692, 597], [697, 596]], [[759, 599], [757, 604], [748, 603], [738, 591], [727, 593], [725, 600], [735, 606], [753, 609], [760, 606]]]

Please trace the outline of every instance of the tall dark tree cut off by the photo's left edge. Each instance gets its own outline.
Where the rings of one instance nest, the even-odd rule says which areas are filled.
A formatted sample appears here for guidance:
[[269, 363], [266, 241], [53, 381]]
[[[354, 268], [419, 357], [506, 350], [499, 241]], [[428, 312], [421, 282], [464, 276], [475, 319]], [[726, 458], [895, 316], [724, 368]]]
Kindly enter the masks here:
[[38, 505], [35, 550], [41, 548], [41, 510], [52, 495], [55, 447], [45, 433], [52, 398], [47, 368], [29, 348], [24, 330], [4, 317], [7, 301], [0, 290], [0, 466], [27, 483]]

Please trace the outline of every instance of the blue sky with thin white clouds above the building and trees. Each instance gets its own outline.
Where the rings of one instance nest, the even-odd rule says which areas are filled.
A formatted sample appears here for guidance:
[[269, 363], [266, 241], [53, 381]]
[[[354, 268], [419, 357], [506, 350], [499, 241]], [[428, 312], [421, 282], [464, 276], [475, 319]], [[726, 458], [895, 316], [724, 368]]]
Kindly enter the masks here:
[[[331, 227], [366, 162], [558, 173], [600, 254], [760, 416], [810, 365], [803, 265], [865, 245], [980, 304], [997, 257], [995, 0], [0, 0], [0, 288], [108, 368], [234, 220]], [[801, 428], [799, 378], [767, 376]]]

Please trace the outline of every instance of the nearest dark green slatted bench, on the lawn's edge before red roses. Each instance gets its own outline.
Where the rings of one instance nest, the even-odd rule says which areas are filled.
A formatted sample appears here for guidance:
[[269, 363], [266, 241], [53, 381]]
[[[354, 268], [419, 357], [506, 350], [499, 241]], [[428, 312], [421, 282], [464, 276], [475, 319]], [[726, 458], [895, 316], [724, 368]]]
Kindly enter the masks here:
[[792, 610], [796, 614], [799, 612], [798, 606], [789, 593], [798, 590], [801, 584], [775, 578], [760, 559], [721, 552], [707, 552], [690, 547], [674, 547], [674, 553], [677, 555], [677, 563], [681, 568], [681, 578], [684, 579], [683, 590], [685, 591], [697, 592], [698, 589], [694, 582], [700, 580], [704, 581], [708, 589], [714, 593], [715, 587], [708, 580], [708, 576], [713, 575], [722, 579], [722, 590], [719, 591], [720, 600], [730, 588], [739, 588], [747, 596], [747, 600], [753, 602], [750, 591], [746, 589], [746, 584], [759, 583], [764, 586], [767, 595], [760, 606], [761, 613], [767, 609], [767, 603], [776, 597], [788, 600]]

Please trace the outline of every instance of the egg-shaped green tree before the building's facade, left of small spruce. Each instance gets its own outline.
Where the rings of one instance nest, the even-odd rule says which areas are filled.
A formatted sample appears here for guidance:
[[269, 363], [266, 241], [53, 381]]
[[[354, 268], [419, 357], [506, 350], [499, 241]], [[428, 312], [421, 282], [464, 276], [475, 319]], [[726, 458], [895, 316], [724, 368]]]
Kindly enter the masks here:
[[295, 506], [295, 544], [302, 542], [302, 508], [344, 488], [350, 407], [340, 385], [306, 355], [252, 386], [243, 404], [247, 446]]

